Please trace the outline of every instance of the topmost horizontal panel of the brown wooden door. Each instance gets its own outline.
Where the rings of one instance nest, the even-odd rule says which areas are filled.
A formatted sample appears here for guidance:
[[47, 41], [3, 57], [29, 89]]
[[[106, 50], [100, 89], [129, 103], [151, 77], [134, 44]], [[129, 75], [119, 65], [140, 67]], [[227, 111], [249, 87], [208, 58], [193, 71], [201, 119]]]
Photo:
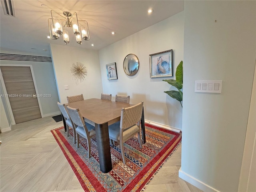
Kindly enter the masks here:
[[1, 66], [4, 82], [32, 81], [30, 67]]

